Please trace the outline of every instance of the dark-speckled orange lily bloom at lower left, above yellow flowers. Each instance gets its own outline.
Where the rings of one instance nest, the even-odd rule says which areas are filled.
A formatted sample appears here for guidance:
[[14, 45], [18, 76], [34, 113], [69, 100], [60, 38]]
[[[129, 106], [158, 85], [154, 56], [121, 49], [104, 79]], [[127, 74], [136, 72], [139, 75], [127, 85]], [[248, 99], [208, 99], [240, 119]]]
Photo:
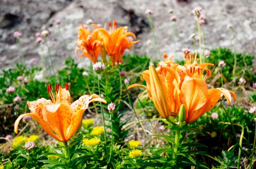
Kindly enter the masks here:
[[[57, 89], [59, 89], [57, 93]], [[27, 102], [31, 113], [20, 115], [14, 124], [15, 133], [18, 133], [18, 125], [24, 116], [32, 116], [53, 138], [67, 142], [76, 132], [83, 112], [88, 108], [90, 102], [107, 103], [104, 99], [96, 94], [83, 95], [72, 104], [69, 102], [70, 94], [68, 84], [65, 88], [55, 85], [56, 99], [53, 96], [51, 85], [47, 86], [47, 90], [51, 95], [51, 100], [45, 98], [38, 99], [33, 102]]]

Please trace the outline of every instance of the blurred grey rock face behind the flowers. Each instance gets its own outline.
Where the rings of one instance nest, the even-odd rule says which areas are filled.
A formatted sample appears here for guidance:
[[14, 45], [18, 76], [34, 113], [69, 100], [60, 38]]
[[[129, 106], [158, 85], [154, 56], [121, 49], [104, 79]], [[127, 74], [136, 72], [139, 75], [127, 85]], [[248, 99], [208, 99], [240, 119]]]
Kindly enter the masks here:
[[[138, 44], [134, 51], [139, 55], [157, 58], [153, 44], [148, 46], [147, 40], [153, 41], [148, 23], [146, 9], [154, 11], [153, 22], [156, 40], [160, 52], [169, 56], [175, 53], [173, 43], [172, 22], [168, 10], [173, 9], [177, 16], [176, 26], [180, 39], [176, 35], [176, 58], [183, 57], [182, 47], [193, 48], [190, 34], [195, 32], [196, 20], [191, 12], [196, 6], [203, 8], [206, 16], [204, 25], [205, 48], [219, 46], [233, 48], [236, 52], [256, 53], [256, 1], [254, 0], [0, 0], [0, 68], [11, 67], [20, 62], [20, 54], [13, 32], [23, 34], [20, 38], [22, 50], [27, 64], [40, 65], [40, 51], [36, 43], [36, 32], [48, 30], [49, 44], [54, 64], [59, 68], [67, 56], [60, 38], [56, 19], [60, 19], [60, 30], [64, 35], [71, 57], [80, 61], [74, 50], [79, 23], [84, 24], [92, 19], [94, 24], [104, 25], [116, 19], [119, 26], [128, 26], [134, 32]], [[233, 25], [235, 39], [227, 29]], [[196, 36], [198, 40], [198, 36]], [[51, 43], [54, 42], [55, 44]], [[198, 45], [197, 45], [198, 46]], [[47, 55], [47, 50], [45, 49]], [[32, 58], [37, 61], [32, 63]], [[89, 63], [88, 60], [84, 62]], [[49, 65], [50, 66], [50, 65]]]

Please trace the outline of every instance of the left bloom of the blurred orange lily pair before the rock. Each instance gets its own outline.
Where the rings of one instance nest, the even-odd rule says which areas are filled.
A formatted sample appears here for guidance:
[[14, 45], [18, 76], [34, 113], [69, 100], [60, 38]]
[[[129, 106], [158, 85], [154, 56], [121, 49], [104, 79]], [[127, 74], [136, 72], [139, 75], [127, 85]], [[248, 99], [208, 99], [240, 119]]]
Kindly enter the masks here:
[[[82, 25], [82, 28], [78, 30], [78, 40], [76, 40], [76, 44], [78, 48], [76, 48], [75, 53], [79, 57], [86, 56], [89, 58], [92, 63], [96, 63], [98, 60], [98, 55], [101, 52], [101, 37], [99, 32], [95, 30], [91, 33], [91, 30], [87, 30]], [[77, 54], [77, 51], [81, 50], [83, 54]]]

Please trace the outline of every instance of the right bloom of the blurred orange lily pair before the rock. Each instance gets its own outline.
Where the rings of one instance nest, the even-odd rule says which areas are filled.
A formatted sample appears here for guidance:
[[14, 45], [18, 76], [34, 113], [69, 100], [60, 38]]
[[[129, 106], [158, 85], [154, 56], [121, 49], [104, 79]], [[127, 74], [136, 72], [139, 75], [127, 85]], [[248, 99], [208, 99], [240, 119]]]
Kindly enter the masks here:
[[116, 63], [122, 63], [124, 50], [131, 49], [134, 44], [140, 41], [133, 41], [131, 37], [128, 37], [132, 36], [134, 39], [136, 39], [136, 36], [132, 32], [127, 32], [127, 26], [117, 28], [115, 19], [113, 19], [112, 27], [111, 23], [109, 23], [109, 31], [107, 31], [105, 28], [100, 28], [97, 25], [92, 26], [97, 28], [95, 31], [100, 31], [102, 33], [102, 41], [106, 52], [112, 61], [112, 66], [116, 65]]

